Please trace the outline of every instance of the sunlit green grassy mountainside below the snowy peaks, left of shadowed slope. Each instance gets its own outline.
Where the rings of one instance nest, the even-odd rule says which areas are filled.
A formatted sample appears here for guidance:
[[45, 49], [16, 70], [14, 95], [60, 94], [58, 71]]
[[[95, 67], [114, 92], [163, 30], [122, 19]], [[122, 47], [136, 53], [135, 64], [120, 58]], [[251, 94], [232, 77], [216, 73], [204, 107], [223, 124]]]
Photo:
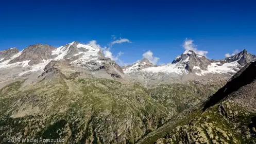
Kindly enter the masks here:
[[134, 143], [221, 86], [146, 89], [139, 83], [67, 80], [57, 74], [26, 89], [21, 85], [18, 81], [0, 90], [0, 137], [64, 138], [72, 143]]

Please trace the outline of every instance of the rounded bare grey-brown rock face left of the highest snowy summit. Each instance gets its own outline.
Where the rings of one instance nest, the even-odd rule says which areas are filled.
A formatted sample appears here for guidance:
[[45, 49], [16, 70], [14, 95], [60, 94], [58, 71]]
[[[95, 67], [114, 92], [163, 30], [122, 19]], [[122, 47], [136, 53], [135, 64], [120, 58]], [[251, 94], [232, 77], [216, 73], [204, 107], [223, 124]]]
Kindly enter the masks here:
[[22, 54], [11, 60], [9, 64], [15, 62], [22, 62], [26, 60], [29, 61], [29, 65], [38, 64], [43, 60], [48, 60], [52, 57], [52, 51], [55, 50], [55, 47], [43, 44], [30, 45], [22, 51]]

